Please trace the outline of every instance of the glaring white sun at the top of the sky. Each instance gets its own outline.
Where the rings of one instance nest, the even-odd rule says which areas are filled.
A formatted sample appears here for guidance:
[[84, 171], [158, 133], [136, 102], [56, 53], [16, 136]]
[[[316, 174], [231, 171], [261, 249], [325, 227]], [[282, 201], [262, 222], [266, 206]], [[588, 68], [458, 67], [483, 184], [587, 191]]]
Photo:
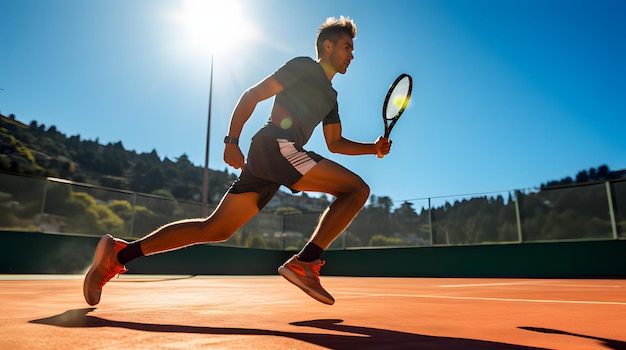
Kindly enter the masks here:
[[238, 1], [185, 0], [176, 16], [184, 41], [193, 50], [220, 54], [254, 38], [255, 31]]

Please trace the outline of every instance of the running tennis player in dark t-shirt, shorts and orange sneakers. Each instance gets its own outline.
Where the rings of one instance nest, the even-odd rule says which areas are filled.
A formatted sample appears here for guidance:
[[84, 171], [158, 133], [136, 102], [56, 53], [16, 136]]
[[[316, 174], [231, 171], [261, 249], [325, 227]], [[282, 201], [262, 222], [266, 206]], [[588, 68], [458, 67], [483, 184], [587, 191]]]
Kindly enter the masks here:
[[[103, 236], [85, 276], [87, 303], [98, 304], [104, 284], [126, 272], [124, 265], [136, 258], [227, 240], [283, 185], [294, 193], [312, 191], [335, 197], [302, 250], [278, 268], [285, 279], [311, 297], [333, 304], [335, 299], [319, 281], [324, 265], [321, 256], [365, 205], [370, 190], [355, 173], [303, 147], [321, 123], [326, 145], [333, 153], [388, 154], [391, 148], [391, 142], [382, 136], [368, 143], [342, 136], [337, 91], [331, 81], [335, 74], [344, 74], [354, 59], [355, 37], [356, 25], [350, 18], [328, 18], [318, 31], [317, 60], [294, 58], [246, 90], [235, 106], [224, 139], [224, 161], [242, 172], [215, 211], [207, 218], [172, 222], [132, 243]], [[271, 116], [252, 138], [244, 162], [239, 135], [256, 105], [273, 96]]]

